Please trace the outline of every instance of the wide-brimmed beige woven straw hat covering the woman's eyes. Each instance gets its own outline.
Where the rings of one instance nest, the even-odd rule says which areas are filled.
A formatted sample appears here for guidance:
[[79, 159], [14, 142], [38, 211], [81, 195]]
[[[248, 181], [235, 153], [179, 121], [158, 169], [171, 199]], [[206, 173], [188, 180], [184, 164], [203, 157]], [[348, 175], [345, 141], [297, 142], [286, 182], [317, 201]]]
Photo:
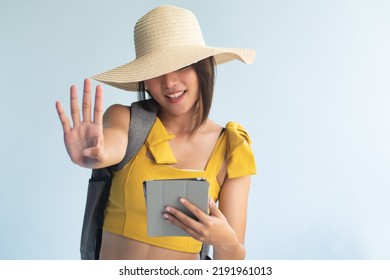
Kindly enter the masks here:
[[252, 49], [206, 46], [195, 15], [174, 6], [157, 7], [140, 18], [134, 27], [134, 45], [135, 60], [92, 78], [120, 89], [137, 91], [138, 82], [210, 56], [214, 56], [217, 64], [234, 59], [250, 64], [255, 60]]

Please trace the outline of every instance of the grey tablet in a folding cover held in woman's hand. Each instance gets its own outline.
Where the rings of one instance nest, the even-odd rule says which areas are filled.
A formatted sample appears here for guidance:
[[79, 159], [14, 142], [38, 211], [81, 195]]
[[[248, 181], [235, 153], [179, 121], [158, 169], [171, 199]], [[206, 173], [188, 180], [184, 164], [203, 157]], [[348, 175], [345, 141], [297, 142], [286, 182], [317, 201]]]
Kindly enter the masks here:
[[172, 206], [196, 219], [179, 199], [184, 197], [208, 213], [209, 183], [203, 179], [153, 180], [144, 182], [149, 236], [188, 236], [181, 228], [163, 217], [166, 206]]

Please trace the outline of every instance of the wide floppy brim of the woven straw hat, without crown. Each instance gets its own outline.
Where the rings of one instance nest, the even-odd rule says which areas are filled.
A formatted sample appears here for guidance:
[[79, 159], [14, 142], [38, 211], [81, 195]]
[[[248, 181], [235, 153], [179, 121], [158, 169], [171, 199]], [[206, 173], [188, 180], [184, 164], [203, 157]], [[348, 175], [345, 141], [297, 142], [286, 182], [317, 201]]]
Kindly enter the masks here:
[[176, 71], [211, 56], [216, 64], [232, 60], [251, 64], [255, 60], [256, 52], [243, 48], [181, 46], [143, 55], [127, 64], [95, 75], [92, 79], [123, 90], [138, 91], [139, 82]]

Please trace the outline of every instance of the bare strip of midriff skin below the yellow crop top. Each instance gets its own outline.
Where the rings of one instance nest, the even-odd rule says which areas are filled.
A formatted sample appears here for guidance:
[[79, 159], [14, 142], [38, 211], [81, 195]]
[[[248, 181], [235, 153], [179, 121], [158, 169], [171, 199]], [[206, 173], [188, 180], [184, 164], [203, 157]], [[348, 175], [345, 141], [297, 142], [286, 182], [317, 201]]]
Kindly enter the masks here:
[[156, 247], [118, 234], [103, 231], [101, 260], [197, 260], [199, 254]]

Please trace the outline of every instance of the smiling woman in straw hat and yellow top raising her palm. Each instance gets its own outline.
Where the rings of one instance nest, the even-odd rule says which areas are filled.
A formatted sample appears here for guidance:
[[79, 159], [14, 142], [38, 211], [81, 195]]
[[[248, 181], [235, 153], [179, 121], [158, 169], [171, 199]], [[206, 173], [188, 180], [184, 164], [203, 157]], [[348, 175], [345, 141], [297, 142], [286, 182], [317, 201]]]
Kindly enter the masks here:
[[[195, 16], [173, 6], [157, 7], [138, 20], [134, 41], [134, 61], [93, 77], [120, 89], [140, 90], [158, 104], [144, 145], [114, 174], [100, 258], [198, 259], [206, 243], [213, 246], [214, 259], [244, 259], [250, 175], [256, 173], [250, 139], [240, 125], [229, 122], [223, 128], [208, 114], [214, 65], [233, 59], [251, 63], [254, 51], [206, 46]], [[128, 142], [128, 107], [113, 105], [103, 116], [103, 89], [98, 85], [92, 120], [89, 79], [84, 81], [82, 120], [77, 103], [72, 86], [73, 127], [56, 104], [71, 160], [87, 168], [120, 162]], [[143, 182], [199, 177], [210, 184], [209, 214], [184, 198], [180, 202], [197, 219], [171, 206], [162, 214], [190, 236], [148, 236]]]

